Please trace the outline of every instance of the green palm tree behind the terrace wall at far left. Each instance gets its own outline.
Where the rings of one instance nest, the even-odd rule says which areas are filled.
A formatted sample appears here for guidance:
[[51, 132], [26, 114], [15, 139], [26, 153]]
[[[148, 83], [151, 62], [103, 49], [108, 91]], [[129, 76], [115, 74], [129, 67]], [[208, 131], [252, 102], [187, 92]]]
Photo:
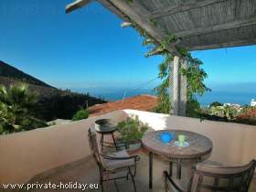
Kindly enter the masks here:
[[26, 84], [0, 86], [0, 133], [14, 133], [47, 126], [33, 115], [37, 94]]

